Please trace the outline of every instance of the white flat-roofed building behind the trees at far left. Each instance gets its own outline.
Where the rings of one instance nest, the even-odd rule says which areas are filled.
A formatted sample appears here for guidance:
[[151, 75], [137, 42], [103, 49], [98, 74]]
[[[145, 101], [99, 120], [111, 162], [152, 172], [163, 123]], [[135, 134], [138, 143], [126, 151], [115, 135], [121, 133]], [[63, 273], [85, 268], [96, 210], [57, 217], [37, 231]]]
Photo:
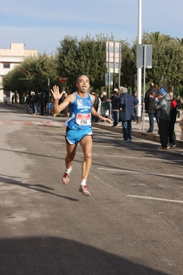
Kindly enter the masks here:
[[10, 101], [11, 94], [4, 94], [3, 75], [23, 61], [25, 57], [37, 57], [37, 50], [24, 50], [23, 43], [10, 43], [10, 49], [0, 49], [0, 102]]

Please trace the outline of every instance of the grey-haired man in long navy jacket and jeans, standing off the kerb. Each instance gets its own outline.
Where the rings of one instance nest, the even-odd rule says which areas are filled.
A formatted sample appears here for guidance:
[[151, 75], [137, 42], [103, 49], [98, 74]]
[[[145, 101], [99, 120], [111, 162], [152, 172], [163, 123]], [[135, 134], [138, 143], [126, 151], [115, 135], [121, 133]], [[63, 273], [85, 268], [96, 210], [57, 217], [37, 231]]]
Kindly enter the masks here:
[[123, 142], [131, 142], [131, 121], [134, 119], [133, 108], [138, 105], [138, 99], [129, 95], [127, 88], [122, 88], [120, 98], [120, 121], [122, 121]]

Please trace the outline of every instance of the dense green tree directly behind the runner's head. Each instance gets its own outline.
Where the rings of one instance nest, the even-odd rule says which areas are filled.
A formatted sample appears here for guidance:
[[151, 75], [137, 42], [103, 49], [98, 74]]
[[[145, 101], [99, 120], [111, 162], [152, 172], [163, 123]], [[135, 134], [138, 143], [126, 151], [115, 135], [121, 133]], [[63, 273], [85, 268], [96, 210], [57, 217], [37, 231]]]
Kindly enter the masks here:
[[87, 35], [85, 38], [65, 37], [57, 49], [59, 73], [67, 77], [69, 89], [76, 90], [76, 78], [87, 74], [90, 84], [96, 89], [105, 86], [106, 41], [102, 34], [96, 40]]

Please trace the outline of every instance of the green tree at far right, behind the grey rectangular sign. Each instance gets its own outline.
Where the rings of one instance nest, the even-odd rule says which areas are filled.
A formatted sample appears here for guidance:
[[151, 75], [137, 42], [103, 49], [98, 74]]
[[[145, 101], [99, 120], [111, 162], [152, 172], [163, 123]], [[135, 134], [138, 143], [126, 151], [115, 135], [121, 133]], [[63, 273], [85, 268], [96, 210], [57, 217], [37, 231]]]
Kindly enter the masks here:
[[[179, 85], [183, 77], [183, 47], [177, 39], [160, 32], [144, 32], [143, 44], [153, 45], [153, 68], [146, 70], [146, 82], [162, 81], [169, 90]], [[133, 50], [136, 43], [133, 45]], [[135, 52], [135, 50], [134, 50]]]

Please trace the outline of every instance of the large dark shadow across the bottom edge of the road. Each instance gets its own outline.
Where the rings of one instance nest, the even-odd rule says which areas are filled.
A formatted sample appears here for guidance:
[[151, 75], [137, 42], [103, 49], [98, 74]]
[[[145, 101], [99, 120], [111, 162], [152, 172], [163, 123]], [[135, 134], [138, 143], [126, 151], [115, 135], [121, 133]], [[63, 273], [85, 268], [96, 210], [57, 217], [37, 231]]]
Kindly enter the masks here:
[[65, 238], [0, 239], [0, 244], [0, 273], [6, 275], [167, 275]]

